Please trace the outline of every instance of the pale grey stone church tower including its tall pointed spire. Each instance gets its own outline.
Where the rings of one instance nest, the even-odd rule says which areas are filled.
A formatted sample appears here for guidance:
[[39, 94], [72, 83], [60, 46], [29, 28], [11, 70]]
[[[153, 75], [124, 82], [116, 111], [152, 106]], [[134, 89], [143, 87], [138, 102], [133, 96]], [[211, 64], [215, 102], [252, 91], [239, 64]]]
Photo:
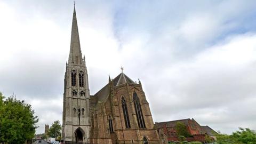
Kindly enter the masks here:
[[62, 138], [66, 144], [89, 143], [90, 93], [74, 7], [71, 43], [64, 79]]

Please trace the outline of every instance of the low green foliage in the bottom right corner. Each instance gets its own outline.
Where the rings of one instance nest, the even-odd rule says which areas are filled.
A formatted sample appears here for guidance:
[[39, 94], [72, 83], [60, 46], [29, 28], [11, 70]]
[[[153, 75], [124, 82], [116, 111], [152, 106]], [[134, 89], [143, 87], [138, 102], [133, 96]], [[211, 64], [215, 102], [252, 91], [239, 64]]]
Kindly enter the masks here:
[[256, 143], [256, 133], [250, 129], [239, 128], [239, 131], [233, 132], [231, 135], [218, 134], [217, 142], [219, 144], [255, 144]]

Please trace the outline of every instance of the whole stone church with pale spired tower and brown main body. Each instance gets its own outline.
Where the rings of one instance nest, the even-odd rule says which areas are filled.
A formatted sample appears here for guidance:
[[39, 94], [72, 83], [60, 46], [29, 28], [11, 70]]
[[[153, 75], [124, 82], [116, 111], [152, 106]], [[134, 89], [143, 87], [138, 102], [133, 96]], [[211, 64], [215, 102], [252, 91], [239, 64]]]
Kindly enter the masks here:
[[69, 143], [159, 143], [141, 82], [123, 73], [90, 95], [74, 7], [64, 79], [62, 139]]

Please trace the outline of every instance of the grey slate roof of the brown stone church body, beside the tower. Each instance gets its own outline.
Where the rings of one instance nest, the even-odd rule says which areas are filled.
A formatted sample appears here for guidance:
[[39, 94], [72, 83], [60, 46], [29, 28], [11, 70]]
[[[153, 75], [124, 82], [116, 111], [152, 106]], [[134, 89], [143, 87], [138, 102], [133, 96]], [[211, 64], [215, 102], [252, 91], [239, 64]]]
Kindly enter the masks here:
[[[114, 86], [118, 86], [125, 83], [135, 84], [131, 78], [126, 76], [124, 73], [119, 74], [112, 80]], [[109, 84], [102, 87], [100, 91], [95, 93], [94, 95], [90, 95], [91, 97], [91, 106], [95, 106], [99, 101], [105, 101], [109, 95], [110, 87]]]

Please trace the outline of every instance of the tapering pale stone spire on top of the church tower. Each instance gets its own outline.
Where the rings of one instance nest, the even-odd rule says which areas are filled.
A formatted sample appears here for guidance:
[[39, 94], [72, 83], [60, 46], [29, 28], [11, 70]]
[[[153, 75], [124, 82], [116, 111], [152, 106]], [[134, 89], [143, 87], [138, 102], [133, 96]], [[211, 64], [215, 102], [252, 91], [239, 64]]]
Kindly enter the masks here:
[[73, 21], [71, 29], [71, 42], [68, 63], [74, 63], [76, 65], [82, 64], [82, 52], [78, 34], [77, 20], [76, 20], [76, 8], [74, 5]]

